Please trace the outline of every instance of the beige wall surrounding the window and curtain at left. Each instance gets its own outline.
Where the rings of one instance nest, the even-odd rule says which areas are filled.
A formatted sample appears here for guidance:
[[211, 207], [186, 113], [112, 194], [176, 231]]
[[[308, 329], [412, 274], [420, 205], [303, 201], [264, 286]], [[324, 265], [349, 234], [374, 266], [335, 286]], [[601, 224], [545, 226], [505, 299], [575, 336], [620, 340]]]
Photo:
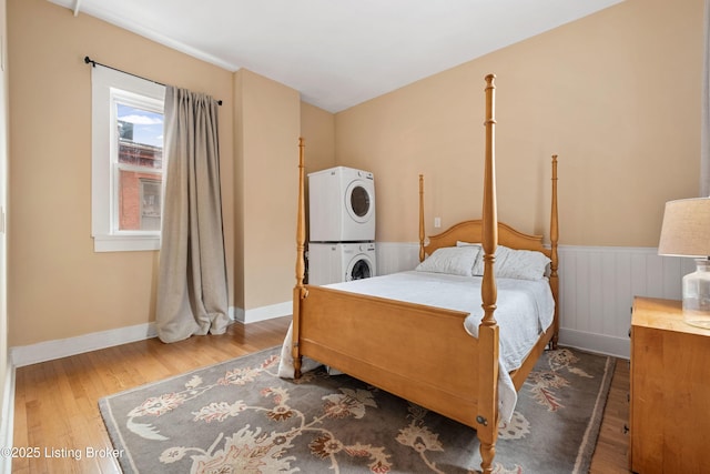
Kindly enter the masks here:
[[93, 252], [91, 71], [83, 58], [223, 100], [220, 148], [230, 261], [233, 74], [87, 14], [74, 18], [44, 0], [9, 0], [8, 18], [10, 345], [152, 321], [158, 252]]

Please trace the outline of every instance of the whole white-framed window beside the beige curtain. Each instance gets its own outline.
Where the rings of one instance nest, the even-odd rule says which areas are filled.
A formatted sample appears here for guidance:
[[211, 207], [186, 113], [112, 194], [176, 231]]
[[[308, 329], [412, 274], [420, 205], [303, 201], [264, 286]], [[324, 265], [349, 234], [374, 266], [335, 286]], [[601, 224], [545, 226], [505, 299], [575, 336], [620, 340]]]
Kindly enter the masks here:
[[160, 248], [165, 88], [92, 68], [94, 251]]

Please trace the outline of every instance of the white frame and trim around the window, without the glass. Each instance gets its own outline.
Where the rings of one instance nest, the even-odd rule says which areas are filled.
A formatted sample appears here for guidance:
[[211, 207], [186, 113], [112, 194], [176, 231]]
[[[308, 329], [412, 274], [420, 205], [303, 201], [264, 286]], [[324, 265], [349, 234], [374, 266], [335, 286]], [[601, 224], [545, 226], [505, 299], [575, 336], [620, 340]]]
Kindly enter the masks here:
[[[91, 68], [91, 235], [94, 252], [160, 250], [160, 231], [122, 231], [118, 216], [115, 101], [163, 113], [165, 87], [110, 68]], [[165, 170], [163, 157], [163, 172]]]

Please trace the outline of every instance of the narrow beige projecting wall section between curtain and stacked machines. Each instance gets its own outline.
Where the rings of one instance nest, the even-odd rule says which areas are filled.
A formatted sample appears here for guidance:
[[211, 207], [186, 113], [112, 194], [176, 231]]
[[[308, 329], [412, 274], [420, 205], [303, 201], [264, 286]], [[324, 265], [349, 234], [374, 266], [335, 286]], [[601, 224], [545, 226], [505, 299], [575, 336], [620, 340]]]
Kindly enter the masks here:
[[[236, 72], [241, 140], [241, 242], [244, 310], [287, 302], [294, 285], [301, 99], [296, 90], [242, 69]], [[239, 281], [241, 280], [241, 281]]]

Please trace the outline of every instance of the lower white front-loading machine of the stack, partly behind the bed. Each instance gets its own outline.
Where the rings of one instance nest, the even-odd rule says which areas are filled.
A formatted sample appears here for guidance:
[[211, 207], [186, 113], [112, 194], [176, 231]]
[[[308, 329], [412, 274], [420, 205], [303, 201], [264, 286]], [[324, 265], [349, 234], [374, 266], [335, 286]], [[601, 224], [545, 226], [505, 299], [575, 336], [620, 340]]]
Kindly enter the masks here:
[[324, 285], [376, 276], [375, 243], [308, 244], [308, 284]]

